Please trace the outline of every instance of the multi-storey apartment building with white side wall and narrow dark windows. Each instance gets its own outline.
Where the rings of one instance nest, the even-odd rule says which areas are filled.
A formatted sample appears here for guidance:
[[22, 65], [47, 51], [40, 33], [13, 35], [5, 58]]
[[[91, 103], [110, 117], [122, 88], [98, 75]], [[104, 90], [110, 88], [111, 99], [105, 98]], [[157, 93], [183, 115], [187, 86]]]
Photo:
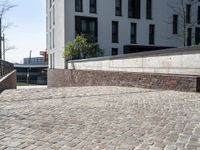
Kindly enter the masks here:
[[200, 43], [200, 2], [194, 1], [47, 0], [49, 68], [65, 68], [64, 47], [80, 33], [106, 56]]

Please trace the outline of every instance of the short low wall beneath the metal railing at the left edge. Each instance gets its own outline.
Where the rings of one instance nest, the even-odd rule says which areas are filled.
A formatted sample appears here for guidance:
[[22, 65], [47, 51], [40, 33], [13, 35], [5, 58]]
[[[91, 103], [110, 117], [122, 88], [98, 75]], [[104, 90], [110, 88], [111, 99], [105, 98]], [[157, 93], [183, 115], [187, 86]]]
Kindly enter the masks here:
[[0, 93], [6, 89], [16, 89], [16, 87], [17, 80], [15, 70], [0, 79]]

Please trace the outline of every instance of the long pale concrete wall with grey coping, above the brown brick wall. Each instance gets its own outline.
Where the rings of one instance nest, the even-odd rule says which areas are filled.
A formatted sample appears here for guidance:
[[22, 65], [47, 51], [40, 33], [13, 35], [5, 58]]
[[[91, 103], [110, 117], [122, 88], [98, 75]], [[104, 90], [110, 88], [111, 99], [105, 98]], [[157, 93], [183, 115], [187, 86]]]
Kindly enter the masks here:
[[148, 51], [68, 61], [68, 69], [200, 76], [200, 47]]

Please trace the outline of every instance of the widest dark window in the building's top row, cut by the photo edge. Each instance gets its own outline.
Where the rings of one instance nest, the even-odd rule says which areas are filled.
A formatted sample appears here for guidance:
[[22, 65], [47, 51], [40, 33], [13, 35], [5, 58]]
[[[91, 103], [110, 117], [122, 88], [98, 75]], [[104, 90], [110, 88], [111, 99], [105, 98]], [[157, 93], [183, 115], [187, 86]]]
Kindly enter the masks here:
[[140, 18], [140, 0], [128, 1], [128, 17], [137, 19]]

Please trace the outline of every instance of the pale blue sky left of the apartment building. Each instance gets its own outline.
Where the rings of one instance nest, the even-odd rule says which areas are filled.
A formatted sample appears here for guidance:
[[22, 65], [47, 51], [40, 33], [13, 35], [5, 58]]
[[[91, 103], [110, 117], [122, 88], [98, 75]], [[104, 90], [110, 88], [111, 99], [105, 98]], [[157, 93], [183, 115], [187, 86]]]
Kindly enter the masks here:
[[5, 30], [8, 47], [6, 60], [23, 63], [23, 58], [40, 56], [46, 49], [46, 6], [45, 0], [10, 0], [16, 5], [6, 13], [3, 22], [12, 25]]

